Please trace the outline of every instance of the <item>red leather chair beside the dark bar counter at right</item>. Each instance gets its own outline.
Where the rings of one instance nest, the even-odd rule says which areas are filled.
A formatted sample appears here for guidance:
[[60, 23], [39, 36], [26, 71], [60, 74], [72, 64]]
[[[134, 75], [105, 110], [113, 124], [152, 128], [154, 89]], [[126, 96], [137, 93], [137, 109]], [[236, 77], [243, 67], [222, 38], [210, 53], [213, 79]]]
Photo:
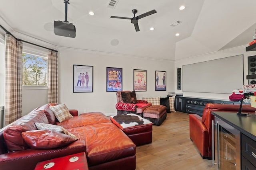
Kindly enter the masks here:
[[[212, 111], [238, 112], [240, 105], [231, 104], [206, 104], [202, 117], [197, 114], [189, 115], [190, 139], [198, 148], [204, 159], [212, 159]], [[243, 105], [242, 112], [255, 113], [255, 108], [250, 105]]]

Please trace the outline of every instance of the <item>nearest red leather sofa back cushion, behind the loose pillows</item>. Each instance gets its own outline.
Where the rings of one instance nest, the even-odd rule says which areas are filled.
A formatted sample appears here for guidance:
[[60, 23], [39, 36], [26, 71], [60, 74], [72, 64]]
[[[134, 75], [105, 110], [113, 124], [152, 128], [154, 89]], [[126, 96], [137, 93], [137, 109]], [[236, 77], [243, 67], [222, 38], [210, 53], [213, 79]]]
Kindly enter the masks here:
[[29, 149], [21, 133], [24, 131], [37, 130], [36, 122], [48, 123], [48, 119], [43, 111], [32, 111], [4, 129], [4, 141], [10, 152]]

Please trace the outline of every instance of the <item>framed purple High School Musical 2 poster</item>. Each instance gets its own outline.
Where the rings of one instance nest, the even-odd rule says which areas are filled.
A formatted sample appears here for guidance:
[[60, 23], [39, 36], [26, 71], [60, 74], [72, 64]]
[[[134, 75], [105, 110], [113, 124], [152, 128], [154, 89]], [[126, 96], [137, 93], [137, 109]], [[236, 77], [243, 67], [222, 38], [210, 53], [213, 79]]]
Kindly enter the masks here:
[[122, 68], [107, 67], [107, 92], [122, 91]]

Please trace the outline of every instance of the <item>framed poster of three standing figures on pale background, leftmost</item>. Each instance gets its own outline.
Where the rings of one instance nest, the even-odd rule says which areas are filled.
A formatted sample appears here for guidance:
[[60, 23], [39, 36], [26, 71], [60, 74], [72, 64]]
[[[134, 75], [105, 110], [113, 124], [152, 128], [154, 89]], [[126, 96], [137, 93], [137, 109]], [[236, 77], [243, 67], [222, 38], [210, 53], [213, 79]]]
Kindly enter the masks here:
[[73, 93], [93, 92], [93, 66], [73, 65]]

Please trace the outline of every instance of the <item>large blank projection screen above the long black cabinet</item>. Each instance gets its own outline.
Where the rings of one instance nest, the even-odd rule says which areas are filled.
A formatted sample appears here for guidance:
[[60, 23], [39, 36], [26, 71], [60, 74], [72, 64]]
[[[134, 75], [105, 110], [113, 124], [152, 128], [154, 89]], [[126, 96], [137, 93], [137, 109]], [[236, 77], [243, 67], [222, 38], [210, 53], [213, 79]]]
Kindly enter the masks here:
[[184, 92], [231, 94], [244, 85], [243, 55], [182, 66]]

